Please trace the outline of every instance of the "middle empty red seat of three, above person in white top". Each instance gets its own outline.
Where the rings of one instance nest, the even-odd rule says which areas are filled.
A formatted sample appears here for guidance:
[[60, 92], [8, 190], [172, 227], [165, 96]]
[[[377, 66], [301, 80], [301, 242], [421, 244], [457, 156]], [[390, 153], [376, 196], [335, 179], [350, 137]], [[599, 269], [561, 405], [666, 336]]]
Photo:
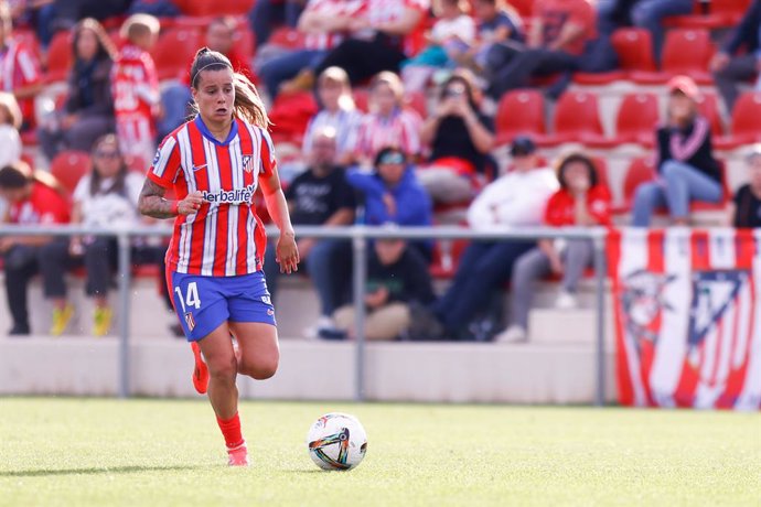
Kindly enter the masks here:
[[603, 138], [597, 95], [587, 91], [566, 91], [555, 110], [555, 133], [537, 138], [537, 144], [557, 145], [564, 142], [592, 143]]

